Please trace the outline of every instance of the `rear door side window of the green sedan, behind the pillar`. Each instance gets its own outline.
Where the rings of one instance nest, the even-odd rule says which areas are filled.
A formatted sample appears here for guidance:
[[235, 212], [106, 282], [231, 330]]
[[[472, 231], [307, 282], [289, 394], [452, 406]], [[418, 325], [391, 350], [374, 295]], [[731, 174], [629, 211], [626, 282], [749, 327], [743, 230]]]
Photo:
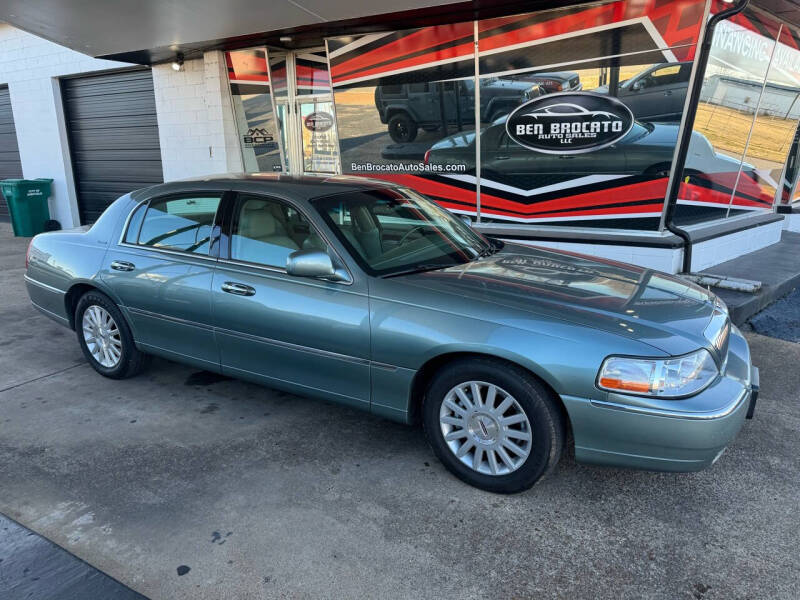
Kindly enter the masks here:
[[[137, 243], [191, 254], [208, 254], [219, 202], [219, 196], [155, 199], [144, 214]], [[135, 220], [131, 219], [131, 223]], [[129, 226], [126, 241], [130, 234]]]

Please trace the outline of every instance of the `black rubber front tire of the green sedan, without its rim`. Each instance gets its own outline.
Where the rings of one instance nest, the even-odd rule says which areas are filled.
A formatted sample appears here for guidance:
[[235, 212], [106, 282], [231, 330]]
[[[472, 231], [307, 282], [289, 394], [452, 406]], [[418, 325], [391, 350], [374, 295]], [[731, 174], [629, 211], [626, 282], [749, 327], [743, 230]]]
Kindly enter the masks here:
[[[473, 470], [455, 456], [444, 439], [439, 413], [445, 396], [469, 381], [502, 388], [516, 399], [528, 418], [530, 453], [510, 473], [491, 475]], [[553, 470], [565, 446], [567, 427], [558, 399], [529, 372], [499, 360], [476, 358], [446, 365], [428, 386], [422, 411], [425, 434], [439, 460], [462, 481], [488, 492], [513, 494], [529, 489]]]

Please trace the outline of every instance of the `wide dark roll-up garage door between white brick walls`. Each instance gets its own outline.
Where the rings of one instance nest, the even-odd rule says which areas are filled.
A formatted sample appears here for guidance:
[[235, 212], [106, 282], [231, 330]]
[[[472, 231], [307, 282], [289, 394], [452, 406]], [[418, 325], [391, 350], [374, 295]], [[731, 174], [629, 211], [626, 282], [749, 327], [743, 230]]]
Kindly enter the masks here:
[[150, 69], [62, 79], [61, 94], [81, 223], [163, 181]]

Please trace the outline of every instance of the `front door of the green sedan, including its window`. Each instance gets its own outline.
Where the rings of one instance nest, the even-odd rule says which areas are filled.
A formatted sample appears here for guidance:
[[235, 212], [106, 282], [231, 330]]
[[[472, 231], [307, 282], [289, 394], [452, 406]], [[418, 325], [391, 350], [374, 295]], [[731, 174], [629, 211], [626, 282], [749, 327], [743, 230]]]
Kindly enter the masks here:
[[345, 404], [369, 403], [364, 283], [286, 273], [289, 254], [328, 245], [285, 202], [240, 194], [229, 221], [212, 284], [223, 372]]

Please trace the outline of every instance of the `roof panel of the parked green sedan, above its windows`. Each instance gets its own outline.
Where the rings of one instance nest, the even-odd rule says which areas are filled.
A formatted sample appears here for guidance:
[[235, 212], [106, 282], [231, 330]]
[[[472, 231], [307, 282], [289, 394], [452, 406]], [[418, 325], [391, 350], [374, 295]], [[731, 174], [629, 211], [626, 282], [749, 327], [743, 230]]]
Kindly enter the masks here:
[[141, 201], [155, 196], [203, 190], [269, 194], [291, 200], [310, 200], [347, 192], [393, 187], [391, 182], [352, 175], [284, 175], [282, 173], [225, 173], [161, 183], [131, 194]]

